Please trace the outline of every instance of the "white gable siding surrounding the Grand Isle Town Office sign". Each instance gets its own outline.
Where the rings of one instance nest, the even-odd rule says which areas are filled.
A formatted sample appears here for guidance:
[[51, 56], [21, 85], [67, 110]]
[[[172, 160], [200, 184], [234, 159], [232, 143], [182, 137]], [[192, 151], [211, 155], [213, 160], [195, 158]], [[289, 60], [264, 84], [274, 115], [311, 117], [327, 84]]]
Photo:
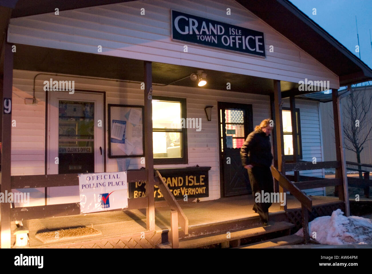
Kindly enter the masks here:
[[[231, 15], [226, 15], [226, 8]], [[145, 15], [140, 15], [140, 9]], [[170, 10], [264, 32], [266, 58], [171, 41]], [[280, 16], [280, 15], [278, 15]], [[280, 20], [280, 18], [278, 18]], [[296, 82], [338, 77], [253, 13], [232, 0], [145, 0], [10, 20], [8, 41], [106, 54]], [[188, 52], [183, 52], [183, 45]], [[102, 45], [102, 53], [97, 46]], [[274, 52], [269, 52], [273, 45]]]

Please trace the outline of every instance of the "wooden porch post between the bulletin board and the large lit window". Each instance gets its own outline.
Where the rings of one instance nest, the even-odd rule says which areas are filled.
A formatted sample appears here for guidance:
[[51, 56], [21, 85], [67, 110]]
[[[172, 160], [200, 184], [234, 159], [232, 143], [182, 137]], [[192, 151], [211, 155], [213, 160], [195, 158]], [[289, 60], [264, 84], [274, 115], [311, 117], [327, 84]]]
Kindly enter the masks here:
[[154, 155], [153, 155], [153, 103], [152, 103], [152, 69], [151, 62], [144, 61], [145, 77], [145, 167], [148, 171], [146, 182], [146, 196], [148, 207], [146, 208], [146, 229], [155, 230], [155, 199], [154, 199]]

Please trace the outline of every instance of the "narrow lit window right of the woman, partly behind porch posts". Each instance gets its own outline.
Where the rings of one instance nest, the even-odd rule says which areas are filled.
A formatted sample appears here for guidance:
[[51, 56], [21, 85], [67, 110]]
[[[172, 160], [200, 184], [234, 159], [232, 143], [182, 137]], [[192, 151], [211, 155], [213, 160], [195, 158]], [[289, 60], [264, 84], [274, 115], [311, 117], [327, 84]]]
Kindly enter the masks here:
[[[284, 140], [284, 155], [286, 160], [293, 160], [293, 139], [292, 139], [292, 120], [291, 110], [283, 107], [283, 140]], [[298, 159], [302, 159], [302, 145], [301, 145], [301, 124], [300, 124], [300, 110], [296, 108], [296, 128], [297, 128], [297, 144], [298, 144]]]

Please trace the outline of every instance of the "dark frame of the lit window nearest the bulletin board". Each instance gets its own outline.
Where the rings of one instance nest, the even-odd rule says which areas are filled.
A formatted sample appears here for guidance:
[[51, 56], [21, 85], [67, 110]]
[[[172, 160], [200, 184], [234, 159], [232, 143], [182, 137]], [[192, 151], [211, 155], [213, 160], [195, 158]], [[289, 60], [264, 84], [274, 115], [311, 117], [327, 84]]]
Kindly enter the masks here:
[[[169, 102], [177, 102], [181, 104], [181, 118], [187, 117], [187, 110], [186, 110], [186, 98], [177, 98], [177, 97], [167, 97], [167, 96], [154, 96], [152, 100], [161, 100], [161, 101], [169, 101]], [[151, 100], [151, 103], [152, 103]], [[152, 113], [151, 113], [152, 114]], [[187, 128], [183, 127], [180, 130], [164, 130], [160, 128], [153, 128], [153, 132], [180, 132], [182, 133], [182, 139], [180, 138], [180, 142], [182, 142], [182, 157], [181, 158], [153, 158], [154, 165], [161, 165], [161, 164], [188, 164], [188, 150], [187, 150]], [[154, 145], [154, 143], [153, 143]]]

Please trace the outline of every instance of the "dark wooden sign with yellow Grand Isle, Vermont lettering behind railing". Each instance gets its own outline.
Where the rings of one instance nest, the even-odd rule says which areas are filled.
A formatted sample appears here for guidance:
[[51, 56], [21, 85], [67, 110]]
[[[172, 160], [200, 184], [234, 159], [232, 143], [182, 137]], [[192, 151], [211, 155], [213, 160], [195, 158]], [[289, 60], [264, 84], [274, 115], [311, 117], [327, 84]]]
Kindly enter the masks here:
[[[209, 196], [208, 171], [211, 167], [185, 167], [179, 169], [158, 169], [176, 200], [203, 198]], [[146, 196], [145, 182], [129, 183], [129, 198]], [[157, 185], [154, 189], [155, 201], [164, 201]]]

